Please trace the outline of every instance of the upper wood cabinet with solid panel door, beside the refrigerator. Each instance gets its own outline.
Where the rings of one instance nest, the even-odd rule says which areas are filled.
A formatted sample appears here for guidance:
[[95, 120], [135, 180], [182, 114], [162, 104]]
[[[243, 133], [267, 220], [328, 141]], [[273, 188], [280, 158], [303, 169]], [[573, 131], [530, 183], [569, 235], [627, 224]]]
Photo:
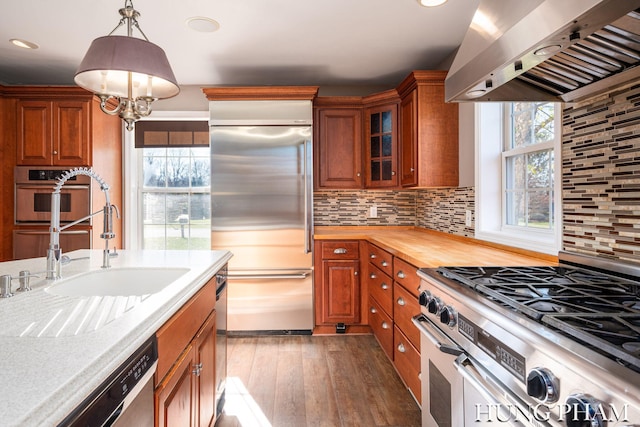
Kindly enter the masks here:
[[362, 188], [362, 99], [319, 97], [314, 111], [314, 187]]

